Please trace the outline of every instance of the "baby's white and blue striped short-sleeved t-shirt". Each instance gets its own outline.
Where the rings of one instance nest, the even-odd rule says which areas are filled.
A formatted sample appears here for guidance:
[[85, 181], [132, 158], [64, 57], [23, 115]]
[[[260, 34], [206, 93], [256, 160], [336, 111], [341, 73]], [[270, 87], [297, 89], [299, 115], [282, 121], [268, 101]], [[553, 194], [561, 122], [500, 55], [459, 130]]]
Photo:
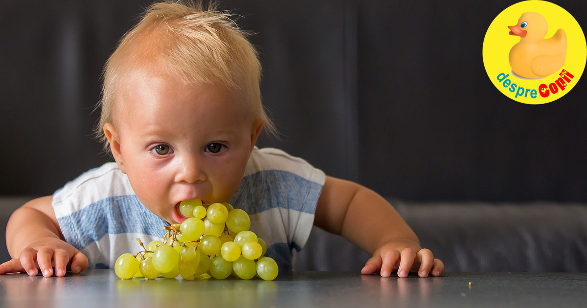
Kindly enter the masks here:
[[[292, 269], [293, 249], [305, 245], [326, 176], [301, 158], [255, 147], [230, 204], [251, 216], [251, 231], [267, 243], [281, 271]], [[166, 233], [166, 221], [145, 208], [126, 174], [106, 163], [53, 194], [65, 241], [83, 252], [90, 268], [113, 268], [118, 256], [142, 250]]]

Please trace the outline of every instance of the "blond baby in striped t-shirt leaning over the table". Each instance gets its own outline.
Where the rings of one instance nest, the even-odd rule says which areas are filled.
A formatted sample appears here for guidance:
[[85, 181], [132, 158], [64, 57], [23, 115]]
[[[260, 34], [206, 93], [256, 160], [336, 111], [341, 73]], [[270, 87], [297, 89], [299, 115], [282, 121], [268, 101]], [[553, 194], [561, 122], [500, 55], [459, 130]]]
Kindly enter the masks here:
[[113, 268], [122, 253], [139, 251], [137, 237], [160, 239], [163, 225], [187, 219], [181, 201], [202, 199], [251, 214], [280, 270], [291, 270], [292, 249], [316, 225], [373, 255], [365, 275], [442, 275], [443, 263], [376, 192], [255, 147], [262, 130], [275, 133], [260, 75], [257, 52], [227, 13], [151, 5], [104, 69], [96, 130], [116, 163], [16, 210], [6, 226], [13, 259], [0, 274]]

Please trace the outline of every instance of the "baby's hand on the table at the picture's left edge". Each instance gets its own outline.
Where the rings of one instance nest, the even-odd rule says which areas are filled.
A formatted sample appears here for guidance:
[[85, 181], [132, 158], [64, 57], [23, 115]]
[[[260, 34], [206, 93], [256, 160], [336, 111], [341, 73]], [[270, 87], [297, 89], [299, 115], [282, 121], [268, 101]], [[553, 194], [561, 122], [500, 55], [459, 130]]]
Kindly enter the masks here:
[[18, 259], [0, 265], [0, 275], [5, 273], [28, 273], [36, 276], [41, 269], [43, 276], [53, 276], [51, 261], [55, 264], [55, 276], [63, 277], [68, 269], [79, 273], [87, 268], [87, 257], [72, 245], [57, 238], [40, 238], [22, 249]]

